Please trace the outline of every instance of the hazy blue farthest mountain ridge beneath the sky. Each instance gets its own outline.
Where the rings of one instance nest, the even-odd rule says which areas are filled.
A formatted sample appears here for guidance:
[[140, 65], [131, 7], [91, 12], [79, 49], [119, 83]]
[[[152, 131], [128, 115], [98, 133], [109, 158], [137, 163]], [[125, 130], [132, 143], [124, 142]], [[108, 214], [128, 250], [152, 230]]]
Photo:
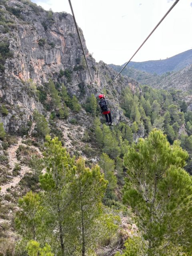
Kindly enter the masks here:
[[[148, 60], [148, 61], [144, 61], [144, 62], [131, 61], [127, 67], [134, 68], [134, 69], [140, 70], [140, 71], [144, 71], [144, 72], [147, 72], [150, 74], [156, 73], [158, 75], [161, 75], [166, 72], [181, 70], [190, 64], [192, 64], [192, 50], [182, 52], [180, 54], [177, 54], [177, 55], [167, 58], [165, 60]], [[118, 66], [118, 65], [110, 64], [109, 66], [111, 66], [116, 71], [118, 71], [124, 65], [125, 64]], [[125, 72], [123, 73], [123, 75], [129, 76], [128, 74], [125, 74]]]

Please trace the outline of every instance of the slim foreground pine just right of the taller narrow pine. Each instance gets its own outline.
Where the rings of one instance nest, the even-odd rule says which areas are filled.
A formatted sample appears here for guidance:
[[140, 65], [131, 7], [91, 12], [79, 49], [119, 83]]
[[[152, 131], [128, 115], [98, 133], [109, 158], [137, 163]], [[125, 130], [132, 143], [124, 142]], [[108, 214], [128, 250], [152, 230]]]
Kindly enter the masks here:
[[78, 159], [76, 166], [76, 179], [72, 186], [72, 194], [75, 198], [74, 220], [76, 220], [76, 236], [81, 255], [85, 256], [88, 248], [93, 248], [98, 241], [98, 219], [102, 215], [101, 202], [107, 182], [99, 166], [94, 166], [90, 170], [85, 167], [82, 158]]

